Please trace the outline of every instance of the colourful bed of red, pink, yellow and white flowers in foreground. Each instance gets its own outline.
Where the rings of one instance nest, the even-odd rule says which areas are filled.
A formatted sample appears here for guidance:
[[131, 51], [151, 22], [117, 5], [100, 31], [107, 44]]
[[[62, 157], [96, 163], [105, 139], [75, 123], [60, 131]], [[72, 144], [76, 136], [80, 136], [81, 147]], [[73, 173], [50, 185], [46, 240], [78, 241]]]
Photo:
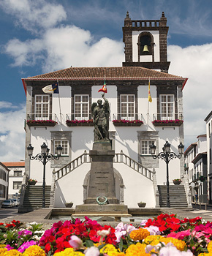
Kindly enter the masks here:
[[24, 256], [210, 256], [212, 222], [180, 220], [174, 214], [146, 219], [140, 227], [120, 222], [116, 228], [85, 217], [41, 225], [13, 220], [0, 223], [0, 255]]

